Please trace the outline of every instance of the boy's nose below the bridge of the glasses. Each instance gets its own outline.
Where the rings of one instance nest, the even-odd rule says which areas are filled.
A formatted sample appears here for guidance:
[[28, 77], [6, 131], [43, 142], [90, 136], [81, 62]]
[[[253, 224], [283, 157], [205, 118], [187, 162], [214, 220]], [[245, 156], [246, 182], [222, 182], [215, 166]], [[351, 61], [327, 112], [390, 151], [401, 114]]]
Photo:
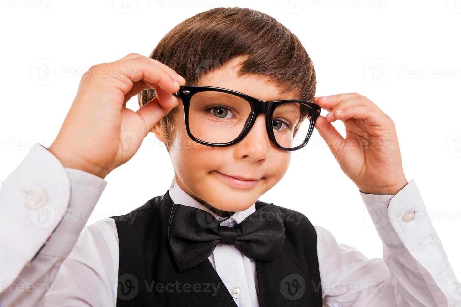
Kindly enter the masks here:
[[271, 140], [266, 130], [266, 115], [260, 114], [248, 134], [236, 146], [236, 158], [263, 162], [267, 159]]

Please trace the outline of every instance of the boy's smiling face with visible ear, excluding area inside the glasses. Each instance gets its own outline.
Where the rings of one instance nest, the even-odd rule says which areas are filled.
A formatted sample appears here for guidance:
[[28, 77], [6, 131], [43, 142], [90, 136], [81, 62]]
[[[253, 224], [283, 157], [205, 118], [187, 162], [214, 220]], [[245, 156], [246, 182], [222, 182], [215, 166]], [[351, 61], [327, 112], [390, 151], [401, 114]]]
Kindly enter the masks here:
[[[232, 59], [225, 67], [202, 77], [196, 85], [224, 87], [266, 101], [296, 99], [293, 93], [280, 94], [275, 83], [262, 75], [237, 78], [241, 59]], [[269, 139], [265, 117], [260, 114], [247, 136], [237, 144], [211, 147], [189, 138], [180, 105], [174, 116], [177, 130], [170, 150], [179, 186], [200, 203], [219, 210], [234, 212], [250, 207], [282, 179], [290, 164], [290, 151], [278, 149]], [[161, 139], [158, 126], [154, 133]], [[256, 180], [245, 182], [226, 175]]]

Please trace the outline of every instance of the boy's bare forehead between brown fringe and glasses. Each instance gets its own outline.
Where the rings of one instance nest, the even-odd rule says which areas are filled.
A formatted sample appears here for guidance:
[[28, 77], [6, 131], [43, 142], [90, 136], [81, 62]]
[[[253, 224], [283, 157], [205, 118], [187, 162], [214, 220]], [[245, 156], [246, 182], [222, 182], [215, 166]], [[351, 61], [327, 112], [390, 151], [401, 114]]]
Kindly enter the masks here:
[[201, 77], [197, 85], [224, 87], [266, 101], [297, 99], [296, 91], [284, 92], [276, 81], [264, 74], [238, 76], [242, 58], [234, 58], [219, 69]]

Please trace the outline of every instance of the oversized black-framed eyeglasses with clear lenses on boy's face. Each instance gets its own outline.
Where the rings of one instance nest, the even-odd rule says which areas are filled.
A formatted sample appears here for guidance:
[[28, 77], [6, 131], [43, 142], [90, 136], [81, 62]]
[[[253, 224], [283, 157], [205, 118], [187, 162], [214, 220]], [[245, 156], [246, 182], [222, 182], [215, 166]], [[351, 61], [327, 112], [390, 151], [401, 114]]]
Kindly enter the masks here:
[[[309, 141], [321, 110], [310, 101], [264, 101], [221, 87], [181, 86], [173, 95], [183, 101], [189, 137], [213, 147], [238, 143], [256, 117], [265, 114], [272, 143], [281, 150], [296, 151]], [[308, 117], [310, 121], [305, 121]]]

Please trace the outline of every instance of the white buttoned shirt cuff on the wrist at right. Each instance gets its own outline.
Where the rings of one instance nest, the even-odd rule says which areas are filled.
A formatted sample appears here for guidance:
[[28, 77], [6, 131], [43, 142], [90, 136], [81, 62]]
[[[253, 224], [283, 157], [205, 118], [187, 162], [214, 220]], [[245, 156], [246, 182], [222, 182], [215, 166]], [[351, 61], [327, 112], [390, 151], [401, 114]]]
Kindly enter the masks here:
[[384, 243], [403, 244], [408, 248], [432, 232], [426, 206], [413, 179], [396, 195], [361, 191], [360, 194]]

